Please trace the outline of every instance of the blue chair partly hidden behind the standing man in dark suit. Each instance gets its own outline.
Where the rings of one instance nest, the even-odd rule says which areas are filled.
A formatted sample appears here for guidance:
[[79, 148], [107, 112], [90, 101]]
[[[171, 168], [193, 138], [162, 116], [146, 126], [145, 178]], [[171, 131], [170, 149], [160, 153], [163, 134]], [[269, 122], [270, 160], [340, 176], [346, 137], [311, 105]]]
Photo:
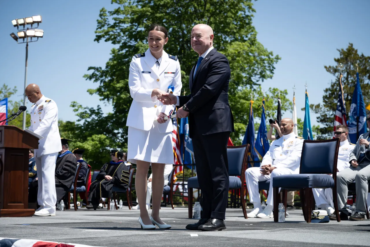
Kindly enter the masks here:
[[[229, 163], [229, 188], [240, 189], [240, 199], [242, 200], [242, 208], [244, 218], [248, 218], [247, 211], [245, 209], [245, 167], [247, 161], [247, 155], [249, 150], [249, 144], [242, 146], [228, 146], [228, 163]], [[240, 178], [236, 177], [240, 176]], [[193, 188], [199, 189], [198, 177], [191, 177], [188, 179], [188, 216], [192, 218], [192, 207], [193, 207]]]

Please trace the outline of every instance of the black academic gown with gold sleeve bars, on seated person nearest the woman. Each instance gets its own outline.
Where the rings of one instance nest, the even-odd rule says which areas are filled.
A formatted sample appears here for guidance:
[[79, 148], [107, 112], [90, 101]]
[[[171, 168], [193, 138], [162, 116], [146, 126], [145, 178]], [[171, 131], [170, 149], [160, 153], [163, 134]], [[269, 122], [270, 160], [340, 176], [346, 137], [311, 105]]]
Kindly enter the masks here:
[[[96, 205], [101, 197], [108, 198], [111, 196], [113, 186], [127, 189], [129, 174], [129, 167], [122, 160], [105, 163], [100, 169], [96, 180], [91, 183], [87, 200]], [[112, 180], [105, 180], [106, 175], [111, 176]]]

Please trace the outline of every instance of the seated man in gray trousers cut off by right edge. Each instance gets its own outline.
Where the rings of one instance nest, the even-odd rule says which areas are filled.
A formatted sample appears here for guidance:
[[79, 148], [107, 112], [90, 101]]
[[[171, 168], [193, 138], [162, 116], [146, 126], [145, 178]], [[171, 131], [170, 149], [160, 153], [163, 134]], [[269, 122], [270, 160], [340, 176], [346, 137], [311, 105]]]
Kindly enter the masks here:
[[[367, 127], [370, 128], [370, 112], [367, 113]], [[344, 169], [337, 174], [337, 195], [338, 208], [340, 210], [340, 220], [348, 220], [347, 211], [347, 196], [348, 184], [356, 183], [356, 213], [349, 217], [349, 220], [365, 220], [366, 200], [369, 192], [368, 181], [370, 179], [370, 136], [369, 132], [364, 133], [357, 140], [356, 146], [350, 153], [350, 167]], [[365, 146], [365, 153], [361, 153], [361, 145]], [[329, 216], [332, 220], [336, 220], [335, 214]]]

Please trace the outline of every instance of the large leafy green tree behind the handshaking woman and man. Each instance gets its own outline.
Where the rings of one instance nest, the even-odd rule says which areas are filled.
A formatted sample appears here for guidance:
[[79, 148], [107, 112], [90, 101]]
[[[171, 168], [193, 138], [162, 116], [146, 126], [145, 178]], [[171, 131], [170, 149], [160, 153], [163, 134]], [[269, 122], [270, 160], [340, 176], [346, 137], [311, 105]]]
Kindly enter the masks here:
[[[112, 103], [113, 113], [104, 116], [99, 107], [92, 109], [74, 103], [81, 119], [78, 128], [86, 130], [86, 133], [87, 130], [94, 130], [93, 133], [109, 136], [118, 142], [118, 146], [127, 143], [125, 124], [132, 102], [128, 89], [128, 68], [134, 54], [148, 49], [146, 30], [151, 23], [167, 27], [169, 42], [165, 50], [179, 57], [182, 94], [189, 93], [188, 74], [198, 56], [191, 49], [190, 33], [195, 24], [205, 23], [214, 30], [215, 48], [225, 54], [230, 63], [229, 99], [237, 130], [234, 135], [239, 138], [248, 123], [246, 113], [250, 90], [256, 90], [261, 82], [272, 78], [274, 64], [280, 59], [256, 38], [257, 32], [252, 25], [255, 12], [252, 1], [112, 0], [111, 3], [114, 4], [112, 11], [100, 10], [95, 41], [111, 42], [118, 47], [111, 50], [112, 57], [105, 68], [89, 67], [91, 73], [84, 77], [98, 83], [95, 89], [88, 92]], [[91, 113], [94, 117], [90, 117]]]

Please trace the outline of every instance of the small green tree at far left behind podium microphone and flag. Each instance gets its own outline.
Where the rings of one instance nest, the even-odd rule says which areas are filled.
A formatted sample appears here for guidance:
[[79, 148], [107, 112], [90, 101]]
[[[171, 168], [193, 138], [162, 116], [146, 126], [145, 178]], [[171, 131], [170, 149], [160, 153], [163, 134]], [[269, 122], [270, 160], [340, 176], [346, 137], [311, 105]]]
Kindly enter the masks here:
[[[11, 96], [14, 96], [14, 94], [16, 94], [17, 91], [18, 91], [17, 90], [17, 87], [14, 87], [13, 89], [11, 89], [5, 83], [0, 88], [0, 97], [1, 97], [1, 99], [5, 99], [6, 97], [8, 98], [8, 116], [10, 116], [13, 113], [16, 113], [18, 111], [19, 107], [21, 105], [23, 105], [23, 100], [18, 100], [18, 101], [10, 100], [10, 97]], [[26, 114], [27, 114], [26, 115], [26, 127], [29, 127], [31, 125], [31, 123], [30, 123], [30, 121], [31, 121], [31, 115], [28, 112], [29, 111], [26, 111]], [[22, 113], [21, 115], [19, 115], [18, 117], [16, 117], [14, 120], [12, 120], [9, 123], [9, 125], [14, 125], [14, 126], [17, 126], [18, 128], [22, 128], [23, 114], [24, 113]], [[3, 123], [0, 123], [0, 125], [1, 124], [4, 124], [4, 122]]]

